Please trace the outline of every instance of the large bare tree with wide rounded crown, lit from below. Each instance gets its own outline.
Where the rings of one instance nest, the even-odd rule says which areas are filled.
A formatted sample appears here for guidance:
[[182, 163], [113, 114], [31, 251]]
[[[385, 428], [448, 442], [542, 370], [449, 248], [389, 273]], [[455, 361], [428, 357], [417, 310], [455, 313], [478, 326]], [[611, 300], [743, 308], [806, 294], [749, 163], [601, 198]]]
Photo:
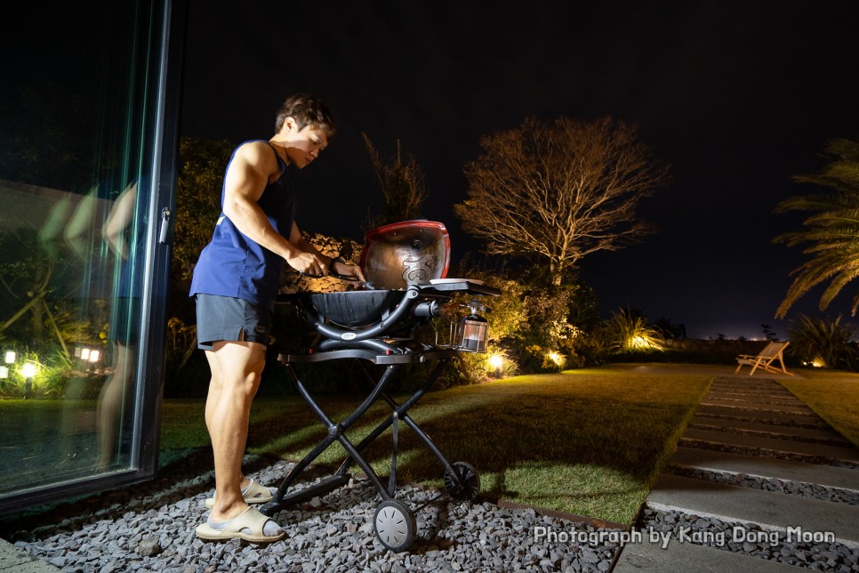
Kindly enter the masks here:
[[465, 165], [469, 198], [454, 206], [486, 254], [549, 262], [551, 281], [587, 254], [614, 251], [654, 229], [638, 220], [642, 198], [669, 182], [636, 129], [610, 117], [582, 122], [528, 118], [480, 141]]

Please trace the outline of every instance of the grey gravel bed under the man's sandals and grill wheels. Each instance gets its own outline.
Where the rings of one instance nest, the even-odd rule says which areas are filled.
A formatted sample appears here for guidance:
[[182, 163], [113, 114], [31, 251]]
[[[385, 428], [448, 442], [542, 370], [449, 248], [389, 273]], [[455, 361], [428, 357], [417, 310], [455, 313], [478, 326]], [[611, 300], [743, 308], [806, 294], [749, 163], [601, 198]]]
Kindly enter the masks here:
[[[205, 519], [205, 497], [213, 495], [213, 472], [206, 469], [211, 456], [179, 457], [156, 480], [0, 522], [0, 534], [63, 571], [99, 573], [607, 571], [624, 534], [479, 499], [431, 501], [438, 491], [404, 486], [397, 497], [411, 507], [430, 501], [415, 511], [413, 545], [392, 553], [373, 532], [378, 494], [368, 481], [352, 480], [321, 499], [278, 512], [275, 519], [287, 530], [282, 541], [267, 546], [203, 543], [194, 528]], [[252, 457], [245, 463], [251, 477], [272, 485], [290, 467]]]

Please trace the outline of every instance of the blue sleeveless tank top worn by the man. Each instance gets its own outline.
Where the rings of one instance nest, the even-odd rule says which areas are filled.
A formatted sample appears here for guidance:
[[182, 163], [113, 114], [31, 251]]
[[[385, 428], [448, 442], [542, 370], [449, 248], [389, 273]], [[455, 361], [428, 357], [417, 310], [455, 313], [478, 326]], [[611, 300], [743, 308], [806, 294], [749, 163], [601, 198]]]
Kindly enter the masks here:
[[[230, 163], [240, 147], [241, 145], [233, 150], [233, 155], [229, 158]], [[271, 150], [277, 156], [282, 173], [276, 182], [266, 185], [257, 204], [261, 206], [271, 226], [288, 238], [293, 229], [296, 198], [292, 185], [287, 181], [284, 160], [277, 155], [274, 147]], [[229, 170], [229, 165], [227, 169]], [[221, 208], [223, 203], [222, 189]], [[194, 268], [190, 295], [231, 296], [265, 305], [274, 311], [284, 264], [284, 259], [279, 255], [245, 237], [221, 212], [212, 241], [200, 253]]]

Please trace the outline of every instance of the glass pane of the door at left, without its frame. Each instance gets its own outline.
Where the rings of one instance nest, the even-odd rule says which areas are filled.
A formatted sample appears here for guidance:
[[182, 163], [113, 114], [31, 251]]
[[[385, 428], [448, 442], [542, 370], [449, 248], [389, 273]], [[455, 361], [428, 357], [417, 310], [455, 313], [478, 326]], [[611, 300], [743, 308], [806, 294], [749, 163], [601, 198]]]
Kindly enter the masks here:
[[0, 93], [0, 496], [136, 448], [149, 15], [86, 4], [20, 19]]

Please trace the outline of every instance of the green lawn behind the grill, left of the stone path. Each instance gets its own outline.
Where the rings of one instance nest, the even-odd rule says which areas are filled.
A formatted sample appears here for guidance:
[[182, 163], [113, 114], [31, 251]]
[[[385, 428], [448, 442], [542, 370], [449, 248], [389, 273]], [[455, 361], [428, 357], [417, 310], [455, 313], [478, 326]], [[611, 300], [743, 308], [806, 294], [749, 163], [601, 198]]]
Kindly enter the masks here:
[[[481, 495], [630, 523], [670, 457], [712, 375], [694, 367], [658, 372], [600, 367], [557, 375], [526, 375], [429, 393], [410, 415], [451, 462], [474, 465]], [[325, 396], [341, 420], [361, 397]], [[162, 448], [208, 446], [201, 400], [165, 400]], [[357, 442], [389, 414], [373, 407], [349, 432]], [[381, 475], [389, 467], [389, 433], [367, 458]], [[248, 451], [299, 459], [325, 430], [298, 397], [254, 402]], [[403, 427], [398, 479], [441, 485], [443, 469]], [[339, 464], [329, 448], [317, 464]]]

